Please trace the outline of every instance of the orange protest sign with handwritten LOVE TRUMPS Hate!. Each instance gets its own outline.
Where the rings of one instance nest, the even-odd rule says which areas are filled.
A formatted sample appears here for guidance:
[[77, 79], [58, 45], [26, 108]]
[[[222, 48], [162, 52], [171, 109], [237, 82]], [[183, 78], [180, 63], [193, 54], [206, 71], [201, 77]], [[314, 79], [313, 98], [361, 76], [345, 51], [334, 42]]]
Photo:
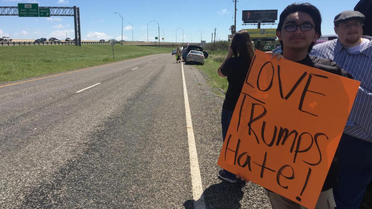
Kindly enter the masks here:
[[256, 50], [218, 165], [314, 208], [359, 84]]

